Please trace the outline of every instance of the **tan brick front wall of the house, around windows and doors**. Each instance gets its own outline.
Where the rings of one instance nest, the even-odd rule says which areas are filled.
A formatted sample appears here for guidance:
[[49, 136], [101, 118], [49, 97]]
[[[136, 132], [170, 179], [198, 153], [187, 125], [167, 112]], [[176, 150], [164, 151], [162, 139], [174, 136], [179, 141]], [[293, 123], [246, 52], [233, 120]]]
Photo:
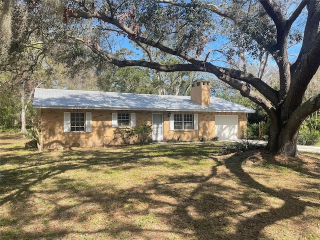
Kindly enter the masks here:
[[[63, 112], [91, 112], [91, 132], [63, 132]], [[135, 124], [139, 126], [143, 123], [152, 123], [152, 113], [163, 113], [163, 137], [171, 138], [180, 136], [181, 140], [197, 140], [199, 136], [206, 138], [213, 137], [214, 133], [214, 114], [238, 114], [238, 135], [242, 134], [246, 127], [246, 113], [234, 112], [179, 112], [182, 114], [198, 113], [198, 130], [169, 130], [169, 117], [163, 111], [114, 111], [114, 110], [90, 110], [90, 109], [40, 109], [37, 110], [41, 119], [41, 130], [43, 133], [43, 147], [57, 148], [61, 146], [97, 146], [108, 144], [133, 143], [122, 139], [113, 139], [113, 130], [120, 127], [112, 127], [112, 112], [131, 113], [135, 112]], [[173, 114], [171, 112], [171, 114]]]

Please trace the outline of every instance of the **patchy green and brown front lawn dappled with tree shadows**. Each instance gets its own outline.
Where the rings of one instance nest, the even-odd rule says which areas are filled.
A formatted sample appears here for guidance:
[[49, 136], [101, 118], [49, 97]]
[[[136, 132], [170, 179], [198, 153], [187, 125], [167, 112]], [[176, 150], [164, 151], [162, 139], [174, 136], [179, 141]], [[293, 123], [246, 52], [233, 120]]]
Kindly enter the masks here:
[[0, 135], [1, 240], [320, 239], [320, 155], [221, 142], [23, 149]]

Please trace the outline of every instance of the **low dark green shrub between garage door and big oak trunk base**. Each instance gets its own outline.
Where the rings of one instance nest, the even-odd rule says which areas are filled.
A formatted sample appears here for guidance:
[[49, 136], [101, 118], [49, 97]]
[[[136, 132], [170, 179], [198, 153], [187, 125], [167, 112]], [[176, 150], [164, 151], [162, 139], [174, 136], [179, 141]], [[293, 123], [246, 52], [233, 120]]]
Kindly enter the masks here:
[[241, 139], [236, 142], [226, 142], [223, 146], [220, 147], [219, 152], [221, 154], [228, 154], [237, 151], [245, 151], [249, 149], [258, 149], [263, 147], [258, 142], [252, 142], [248, 139]]

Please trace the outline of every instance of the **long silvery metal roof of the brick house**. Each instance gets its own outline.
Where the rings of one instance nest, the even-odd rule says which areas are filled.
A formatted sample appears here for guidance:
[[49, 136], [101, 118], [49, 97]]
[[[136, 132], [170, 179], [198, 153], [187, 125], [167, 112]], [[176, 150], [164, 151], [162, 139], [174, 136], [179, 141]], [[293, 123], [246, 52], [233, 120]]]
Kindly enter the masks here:
[[139, 93], [79, 91], [36, 88], [35, 108], [163, 110], [163, 111], [217, 111], [254, 112], [253, 109], [210, 97], [209, 106], [201, 106], [190, 96], [155, 95]]

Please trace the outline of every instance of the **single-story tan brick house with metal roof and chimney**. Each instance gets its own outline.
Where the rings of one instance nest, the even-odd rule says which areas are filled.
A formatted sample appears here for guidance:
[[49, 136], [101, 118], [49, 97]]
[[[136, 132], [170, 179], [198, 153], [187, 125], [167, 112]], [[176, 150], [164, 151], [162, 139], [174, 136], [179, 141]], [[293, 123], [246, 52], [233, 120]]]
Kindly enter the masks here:
[[192, 83], [191, 96], [58, 90], [37, 88], [43, 148], [133, 143], [115, 139], [113, 131], [152, 125], [152, 141], [180, 136], [238, 138], [253, 109], [209, 96], [208, 81]]

